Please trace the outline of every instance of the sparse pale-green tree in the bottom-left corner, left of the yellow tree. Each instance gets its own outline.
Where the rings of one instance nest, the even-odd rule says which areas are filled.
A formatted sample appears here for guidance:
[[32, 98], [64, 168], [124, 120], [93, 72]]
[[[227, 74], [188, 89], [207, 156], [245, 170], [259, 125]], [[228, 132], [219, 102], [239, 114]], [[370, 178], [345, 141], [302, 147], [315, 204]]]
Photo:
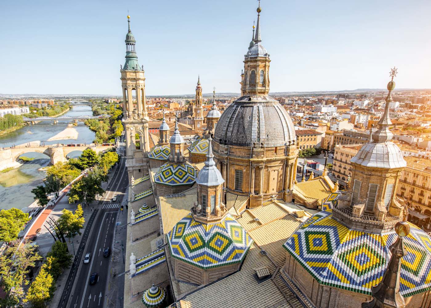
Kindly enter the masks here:
[[[15, 240], [0, 255], [0, 286], [5, 295], [0, 297], [0, 307], [17, 305], [22, 298], [22, 286], [28, 284], [26, 275], [36, 261], [41, 260], [37, 246]], [[13, 292], [12, 292], [13, 290]]]

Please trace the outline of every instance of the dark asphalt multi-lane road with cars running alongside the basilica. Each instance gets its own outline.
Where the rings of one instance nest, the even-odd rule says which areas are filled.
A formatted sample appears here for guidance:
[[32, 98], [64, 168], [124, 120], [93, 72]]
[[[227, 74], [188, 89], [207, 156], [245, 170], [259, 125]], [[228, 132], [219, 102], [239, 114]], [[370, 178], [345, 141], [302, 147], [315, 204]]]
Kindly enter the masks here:
[[[76, 270], [76, 278], [72, 276], [70, 280], [68, 279], [68, 283], [73, 285], [71, 293], [69, 296], [62, 296], [65, 300], [60, 301], [58, 308], [103, 308], [106, 305], [106, 286], [110, 275], [109, 267], [112, 262], [112, 242], [116, 232], [120, 205], [123, 203], [124, 192], [127, 187], [128, 176], [125, 159], [121, 158], [117, 173], [109, 183], [104, 195], [105, 200], [110, 200], [114, 196], [117, 196], [118, 200], [99, 202], [94, 206], [97, 213], [95, 213], [95, 218], [89, 226], [88, 238], [80, 243], [82, 253], [76, 261], [77, 268], [72, 268], [72, 270]], [[103, 257], [103, 251], [108, 247], [111, 250], [111, 255]], [[90, 263], [84, 264], [84, 255], [87, 252], [91, 253], [91, 260]], [[92, 273], [99, 275], [94, 285], [89, 284]]]

